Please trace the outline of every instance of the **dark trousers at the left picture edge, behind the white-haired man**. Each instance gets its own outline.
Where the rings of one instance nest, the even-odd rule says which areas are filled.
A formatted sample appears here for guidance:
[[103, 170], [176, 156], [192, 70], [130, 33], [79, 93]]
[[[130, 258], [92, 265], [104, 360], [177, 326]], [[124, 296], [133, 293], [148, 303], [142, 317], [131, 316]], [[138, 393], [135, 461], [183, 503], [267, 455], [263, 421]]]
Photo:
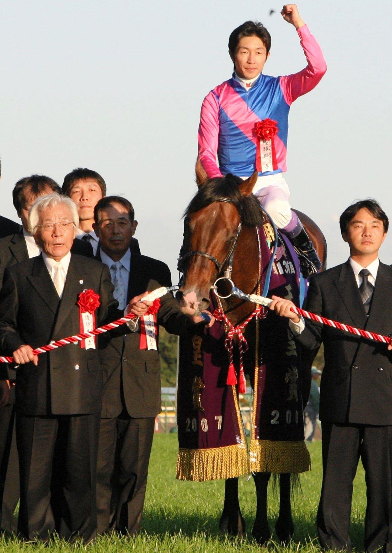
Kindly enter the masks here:
[[0, 530], [15, 532], [19, 500], [19, 463], [14, 405], [0, 408]]

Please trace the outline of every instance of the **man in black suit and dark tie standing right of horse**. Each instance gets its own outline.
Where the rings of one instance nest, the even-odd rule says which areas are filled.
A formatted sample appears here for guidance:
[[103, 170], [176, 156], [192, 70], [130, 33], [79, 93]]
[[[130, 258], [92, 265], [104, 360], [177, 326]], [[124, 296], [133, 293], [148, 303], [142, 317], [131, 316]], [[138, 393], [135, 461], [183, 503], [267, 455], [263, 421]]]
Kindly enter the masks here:
[[[312, 276], [305, 309], [357, 328], [389, 335], [392, 328], [392, 267], [379, 261], [388, 217], [375, 200], [349, 206], [340, 218], [350, 258]], [[351, 550], [348, 535], [352, 481], [359, 457], [365, 469], [365, 548], [392, 550], [392, 352], [391, 346], [329, 326], [304, 324], [291, 302], [270, 305], [289, 317], [306, 348], [324, 343], [320, 387], [323, 481], [317, 530], [324, 549]]]

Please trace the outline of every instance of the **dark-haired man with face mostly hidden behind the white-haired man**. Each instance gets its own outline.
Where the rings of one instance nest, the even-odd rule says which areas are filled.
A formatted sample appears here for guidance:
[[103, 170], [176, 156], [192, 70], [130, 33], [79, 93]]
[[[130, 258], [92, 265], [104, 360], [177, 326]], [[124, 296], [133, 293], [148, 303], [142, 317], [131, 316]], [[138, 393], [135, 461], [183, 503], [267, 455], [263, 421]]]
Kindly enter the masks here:
[[[48, 176], [32, 175], [20, 179], [12, 191], [13, 204], [22, 226], [17, 225], [16, 231], [10, 236], [0, 239], [0, 288], [4, 270], [25, 259], [40, 254], [40, 248], [29, 232], [29, 209], [38, 197], [60, 193], [59, 185]], [[72, 253], [93, 257], [90, 244], [75, 238], [71, 248]], [[3, 406], [0, 406], [0, 530], [15, 531], [17, 522], [14, 510], [19, 499], [19, 467], [15, 440], [15, 410], [14, 410], [14, 381], [15, 371], [12, 366], [0, 367], [0, 378], [11, 382], [8, 400], [3, 397]], [[4, 382], [2, 383], [4, 386]], [[2, 405], [2, 404], [0, 404]]]

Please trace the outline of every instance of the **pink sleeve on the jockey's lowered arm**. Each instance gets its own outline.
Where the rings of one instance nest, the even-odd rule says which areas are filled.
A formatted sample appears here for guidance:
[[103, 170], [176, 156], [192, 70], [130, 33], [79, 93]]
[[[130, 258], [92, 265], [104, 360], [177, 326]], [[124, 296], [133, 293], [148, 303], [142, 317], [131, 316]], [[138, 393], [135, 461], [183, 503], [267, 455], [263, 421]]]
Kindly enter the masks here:
[[201, 106], [198, 127], [198, 156], [208, 179], [223, 176], [217, 164], [219, 137], [219, 105], [213, 92], [210, 92]]

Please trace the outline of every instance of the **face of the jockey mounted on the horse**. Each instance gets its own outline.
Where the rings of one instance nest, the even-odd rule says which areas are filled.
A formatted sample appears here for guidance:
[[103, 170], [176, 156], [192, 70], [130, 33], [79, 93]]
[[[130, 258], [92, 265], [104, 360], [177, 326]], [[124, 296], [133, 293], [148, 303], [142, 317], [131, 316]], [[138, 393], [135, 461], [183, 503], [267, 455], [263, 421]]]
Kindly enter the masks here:
[[237, 75], [242, 79], [254, 79], [262, 71], [269, 52], [258, 36], [243, 36], [239, 40], [234, 56], [229, 53], [236, 66]]

